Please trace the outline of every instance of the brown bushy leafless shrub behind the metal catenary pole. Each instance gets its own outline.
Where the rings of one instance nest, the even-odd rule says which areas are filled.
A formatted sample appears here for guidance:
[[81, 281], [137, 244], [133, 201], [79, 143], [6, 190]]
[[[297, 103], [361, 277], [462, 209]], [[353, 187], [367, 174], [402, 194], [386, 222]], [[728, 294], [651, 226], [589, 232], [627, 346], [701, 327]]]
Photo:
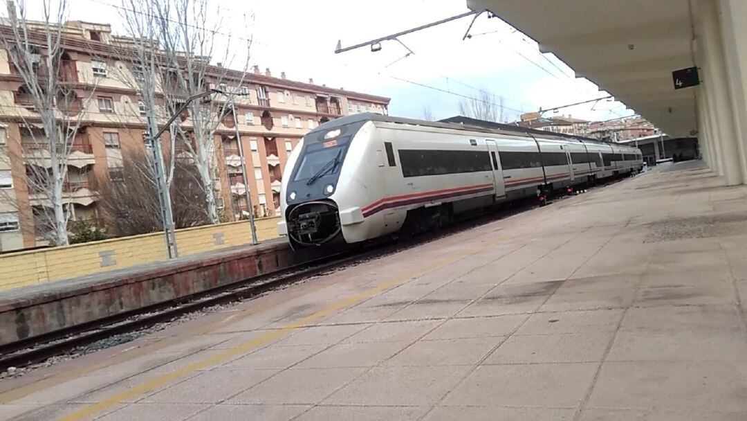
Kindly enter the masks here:
[[[109, 235], [134, 236], [162, 230], [155, 174], [145, 148], [123, 150], [121, 173], [99, 180], [99, 206], [107, 218]], [[208, 224], [205, 192], [194, 165], [176, 160], [171, 183], [177, 228]]]

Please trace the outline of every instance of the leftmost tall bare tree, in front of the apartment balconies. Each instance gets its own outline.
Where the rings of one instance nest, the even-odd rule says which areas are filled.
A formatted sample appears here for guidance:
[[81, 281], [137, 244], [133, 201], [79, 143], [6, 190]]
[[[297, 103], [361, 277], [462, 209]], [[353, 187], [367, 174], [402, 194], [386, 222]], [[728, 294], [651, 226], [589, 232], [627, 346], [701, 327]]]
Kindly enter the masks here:
[[69, 243], [67, 223], [72, 205], [63, 190], [68, 157], [75, 147], [86, 108], [94, 88], [73, 88], [75, 73], [66, 56], [63, 23], [67, 2], [42, 1], [41, 21], [27, 17], [24, 0], [7, 1], [7, 19], [0, 27], [0, 47], [7, 54], [11, 71], [22, 79], [15, 93], [14, 116], [22, 121], [16, 162], [25, 162], [25, 182], [40, 200], [34, 208], [34, 224], [53, 245]]

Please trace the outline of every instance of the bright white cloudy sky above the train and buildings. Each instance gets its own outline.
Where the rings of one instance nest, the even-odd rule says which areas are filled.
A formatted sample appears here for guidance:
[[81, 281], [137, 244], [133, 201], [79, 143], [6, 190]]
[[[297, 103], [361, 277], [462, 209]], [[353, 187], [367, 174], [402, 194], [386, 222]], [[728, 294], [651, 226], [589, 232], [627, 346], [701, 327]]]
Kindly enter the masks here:
[[[19, 0], [16, 0], [19, 1]], [[40, 13], [38, 0], [26, 0], [30, 18]], [[60, 0], [51, 0], [60, 1]], [[68, 0], [68, 19], [111, 23], [124, 34], [122, 0]], [[437, 119], [459, 114], [459, 102], [489, 90], [503, 98], [503, 117], [518, 120], [521, 112], [547, 111], [587, 120], [608, 120], [633, 114], [621, 102], [603, 100], [555, 112], [553, 108], [607, 96], [536, 43], [498, 17], [479, 16], [462, 40], [472, 17], [385, 41], [379, 52], [362, 47], [335, 54], [335, 45], [350, 46], [469, 11], [465, 0], [208, 0], [211, 28], [220, 46], [237, 52], [214, 58], [230, 67], [249, 64], [273, 76], [329, 87], [344, 87], [391, 98], [389, 114]], [[128, 1], [127, 1], [128, 2]], [[500, 15], [500, 10], [496, 10]], [[407, 48], [414, 54], [405, 57]], [[217, 48], [216, 51], [224, 48]], [[217, 55], [217, 54], [216, 54]]]

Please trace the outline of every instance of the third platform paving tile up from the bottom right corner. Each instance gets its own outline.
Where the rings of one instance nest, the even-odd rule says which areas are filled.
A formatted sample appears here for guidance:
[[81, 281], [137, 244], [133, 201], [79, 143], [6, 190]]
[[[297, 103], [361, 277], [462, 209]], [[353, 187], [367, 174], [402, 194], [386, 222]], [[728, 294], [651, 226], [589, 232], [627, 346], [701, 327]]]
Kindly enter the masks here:
[[608, 361], [745, 361], [747, 337], [742, 331], [621, 331]]

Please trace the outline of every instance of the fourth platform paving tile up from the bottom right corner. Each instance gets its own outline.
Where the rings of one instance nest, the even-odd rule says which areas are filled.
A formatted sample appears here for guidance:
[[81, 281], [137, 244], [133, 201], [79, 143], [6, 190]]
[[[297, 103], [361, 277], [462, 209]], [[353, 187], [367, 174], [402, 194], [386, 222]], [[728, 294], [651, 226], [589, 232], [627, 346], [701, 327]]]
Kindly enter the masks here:
[[630, 308], [622, 319], [622, 331], [663, 329], [740, 329], [736, 306]]

